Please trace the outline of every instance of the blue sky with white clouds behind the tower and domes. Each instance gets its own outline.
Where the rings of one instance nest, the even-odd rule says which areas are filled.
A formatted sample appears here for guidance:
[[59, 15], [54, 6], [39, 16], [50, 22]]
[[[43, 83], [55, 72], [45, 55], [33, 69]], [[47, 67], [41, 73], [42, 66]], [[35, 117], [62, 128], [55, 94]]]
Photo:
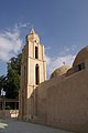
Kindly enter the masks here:
[[45, 45], [50, 76], [88, 44], [88, 0], [0, 0], [0, 75], [32, 27]]

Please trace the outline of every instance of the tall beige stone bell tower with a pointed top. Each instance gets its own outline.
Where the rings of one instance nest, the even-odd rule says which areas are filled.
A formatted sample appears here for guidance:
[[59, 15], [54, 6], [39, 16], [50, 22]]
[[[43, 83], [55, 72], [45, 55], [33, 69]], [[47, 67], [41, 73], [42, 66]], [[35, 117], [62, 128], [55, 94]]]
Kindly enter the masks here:
[[44, 45], [34, 29], [26, 35], [22, 51], [20, 117], [29, 120], [37, 115], [37, 90], [41, 82], [46, 80], [46, 61]]

